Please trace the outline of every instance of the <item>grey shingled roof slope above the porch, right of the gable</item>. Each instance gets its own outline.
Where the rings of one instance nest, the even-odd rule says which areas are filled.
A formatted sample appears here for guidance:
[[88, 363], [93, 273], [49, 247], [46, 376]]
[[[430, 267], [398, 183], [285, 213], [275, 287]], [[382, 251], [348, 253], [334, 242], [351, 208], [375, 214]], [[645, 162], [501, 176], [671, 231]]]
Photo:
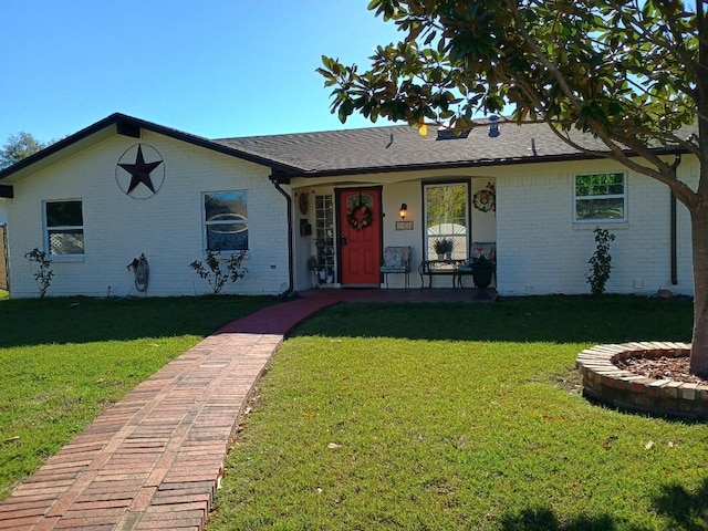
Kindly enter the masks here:
[[[347, 175], [402, 169], [454, 168], [589, 158], [545, 124], [502, 124], [490, 137], [486, 125], [466, 137], [426, 136], [407, 125], [216, 139], [239, 152], [301, 168], [301, 175]], [[442, 131], [442, 133], [445, 133]], [[592, 135], [574, 135], [583, 147], [606, 150]], [[295, 174], [298, 174], [295, 171]], [[292, 174], [291, 174], [292, 175]]]

